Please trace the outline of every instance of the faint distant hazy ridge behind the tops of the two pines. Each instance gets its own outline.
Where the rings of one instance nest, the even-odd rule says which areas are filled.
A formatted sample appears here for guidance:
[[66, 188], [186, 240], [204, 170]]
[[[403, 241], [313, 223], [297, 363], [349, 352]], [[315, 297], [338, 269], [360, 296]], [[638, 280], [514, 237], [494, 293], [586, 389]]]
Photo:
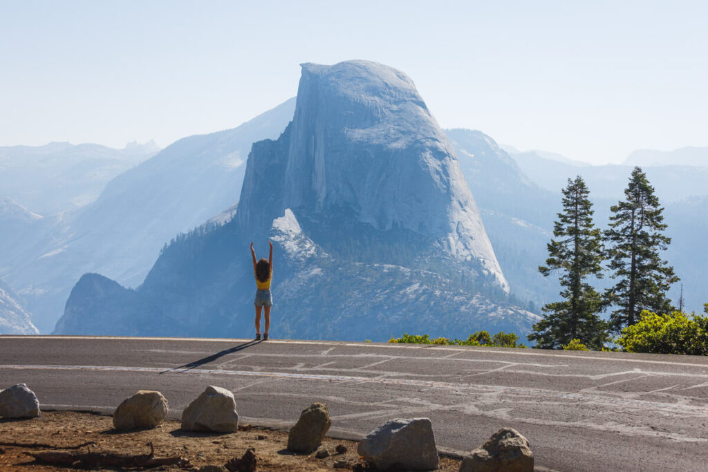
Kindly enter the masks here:
[[[525, 175], [540, 187], [551, 192], [565, 188], [568, 178], [582, 175], [590, 195], [619, 199], [627, 186], [627, 178], [634, 166], [606, 164], [577, 166], [554, 159], [546, 159], [538, 151], [510, 154]], [[688, 197], [708, 195], [705, 182], [708, 167], [697, 166], [641, 166], [656, 193], [664, 202], [678, 202]]]

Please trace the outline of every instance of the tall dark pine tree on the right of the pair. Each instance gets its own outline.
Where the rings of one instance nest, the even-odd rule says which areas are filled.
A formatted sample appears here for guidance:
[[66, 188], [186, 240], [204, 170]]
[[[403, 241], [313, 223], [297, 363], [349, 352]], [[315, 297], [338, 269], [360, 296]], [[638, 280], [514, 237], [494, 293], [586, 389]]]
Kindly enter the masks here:
[[639, 321], [642, 310], [673, 311], [666, 292], [679, 280], [673, 267], [659, 257], [671, 238], [661, 233], [666, 229], [663, 207], [641, 168], [632, 171], [624, 198], [610, 207], [610, 228], [605, 231], [611, 277], [618, 280], [606, 294], [607, 301], [618, 307], [610, 315], [612, 330], [617, 332]]

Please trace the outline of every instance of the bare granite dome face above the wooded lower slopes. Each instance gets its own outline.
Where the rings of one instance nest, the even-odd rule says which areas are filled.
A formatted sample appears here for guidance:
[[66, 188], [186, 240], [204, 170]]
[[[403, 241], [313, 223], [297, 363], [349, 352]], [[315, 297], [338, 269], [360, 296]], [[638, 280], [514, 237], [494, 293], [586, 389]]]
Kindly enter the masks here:
[[[292, 123], [277, 142], [254, 146], [248, 165], [241, 229], [267, 231], [290, 208], [320, 223], [337, 215], [412, 232], [453, 260], [476, 261], [480, 275], [508, 291], [455, 149], [401, 71], [367, 61], [302, 64]], [[265, 175], [272, 187], [264, 201]]]

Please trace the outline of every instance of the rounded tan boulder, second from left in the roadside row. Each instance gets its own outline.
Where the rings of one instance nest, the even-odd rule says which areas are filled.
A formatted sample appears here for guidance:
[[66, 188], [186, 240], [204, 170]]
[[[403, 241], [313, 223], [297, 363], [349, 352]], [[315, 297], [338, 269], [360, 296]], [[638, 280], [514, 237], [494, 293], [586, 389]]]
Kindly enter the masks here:
[[134, 430], [159, 425], [169, 410], [167, 399], [159, 391], [139, 390], [126, 398], [113, 413], [116, 430]]

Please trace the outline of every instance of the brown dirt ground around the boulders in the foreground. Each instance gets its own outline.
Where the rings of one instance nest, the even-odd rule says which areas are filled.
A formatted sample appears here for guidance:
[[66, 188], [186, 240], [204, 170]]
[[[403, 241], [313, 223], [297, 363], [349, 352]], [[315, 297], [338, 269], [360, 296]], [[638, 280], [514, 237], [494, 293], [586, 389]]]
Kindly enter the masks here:
[[[155, 457], [187, 459], [181, 466], [159, 466], [150, 470], [198, 470], [200, 467], [224, 466], [227, 461], [244, 456], [255, 449], [257, 471], [367, 471], [367, 465], [356, 454], [357, 443], [326, 438], [322, 447], [331, 456], [318, 459], [315, 453], [293, 454], [287, 451], [287, 432], [241, 425], [239, 432], [229, 434], [193, 433], [180, 430], [180, 423], [166, 420], [153, 430], [118, 432], [110, 416], [78, 412], [45, 412], [43, 418], [0, 420], [0, 471], [73, 471], [70, 466], [38, 464], [27, 452], [113, 452], [149, 454], [152, 442]], [[84, 445], [78, 449], [66, 449]], [[337, 446], [346, 452], [337, 453]], [[341, 450], [341, 448], [339, 448]], [[440, 457], [440, 471], [459, 470], [459, 460]], [[107, 468], [104, 470], [124, 470]]]

